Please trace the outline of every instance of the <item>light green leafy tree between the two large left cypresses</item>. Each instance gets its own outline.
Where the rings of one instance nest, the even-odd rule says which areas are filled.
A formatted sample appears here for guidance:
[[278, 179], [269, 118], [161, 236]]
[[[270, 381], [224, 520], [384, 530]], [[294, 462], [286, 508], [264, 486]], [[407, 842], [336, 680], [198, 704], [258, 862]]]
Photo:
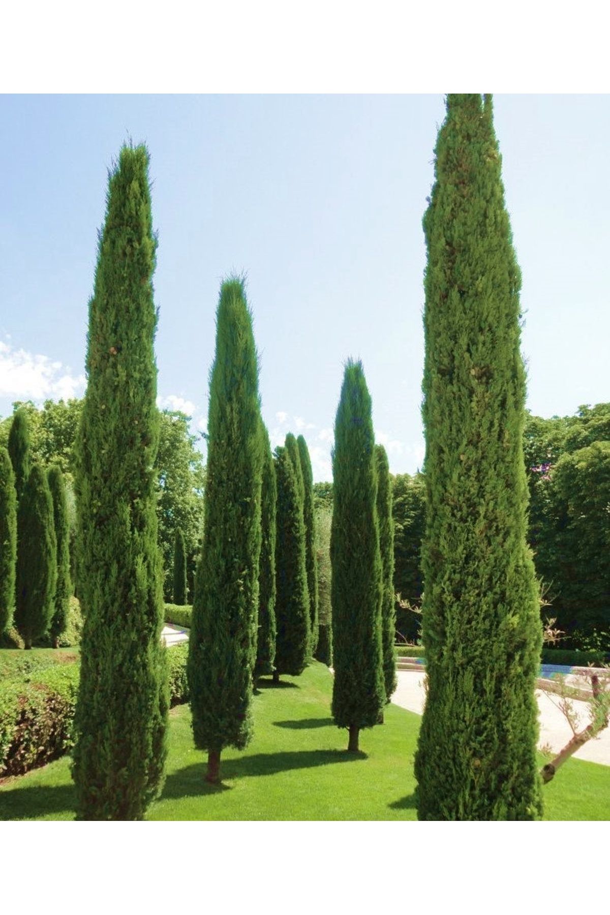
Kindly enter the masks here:
[[[176, 532], [179, 530], [184, 537], [187, 575], [190, 572], [191, 578], [194, 570], [192, 557], [201, 552], [206, 471], [201, 452], [196, 447], [197, 441], [197, 436], [189, 432], [185, 414], [169, 410], [161, 413], [159, 449], [155, 460], [158, 480], [156, 514], [165, 570], [166, 600], [174, 596], [172, 571]], [[192, 601], [192, 584], [188, 590]]]

